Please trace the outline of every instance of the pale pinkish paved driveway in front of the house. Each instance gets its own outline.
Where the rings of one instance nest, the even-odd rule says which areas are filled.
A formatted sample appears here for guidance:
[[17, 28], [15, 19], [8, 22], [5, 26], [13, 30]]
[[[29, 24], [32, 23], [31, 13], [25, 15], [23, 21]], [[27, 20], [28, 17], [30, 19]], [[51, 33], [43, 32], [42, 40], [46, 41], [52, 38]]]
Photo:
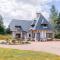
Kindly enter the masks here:
[[19, 50], [43, 51], [60, 56], [60, 41], [51, 42], [31, 42], [25, 45], [1, 45], [3, 48], [13, 48]]

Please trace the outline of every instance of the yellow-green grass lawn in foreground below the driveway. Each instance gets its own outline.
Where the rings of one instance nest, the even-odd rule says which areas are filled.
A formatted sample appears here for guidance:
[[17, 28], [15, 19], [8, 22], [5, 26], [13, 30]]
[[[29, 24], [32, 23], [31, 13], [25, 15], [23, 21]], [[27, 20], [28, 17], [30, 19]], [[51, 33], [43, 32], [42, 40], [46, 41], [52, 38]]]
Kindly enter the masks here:
[[43, 52], [0, 48], [0, 60], [60, 60], [60, 57]]

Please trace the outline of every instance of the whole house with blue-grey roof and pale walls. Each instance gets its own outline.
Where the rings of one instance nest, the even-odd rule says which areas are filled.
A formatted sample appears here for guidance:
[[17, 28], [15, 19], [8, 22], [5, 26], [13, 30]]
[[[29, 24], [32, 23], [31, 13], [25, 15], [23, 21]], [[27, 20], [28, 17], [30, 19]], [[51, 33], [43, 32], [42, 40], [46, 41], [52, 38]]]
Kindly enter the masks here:
[[51, 24], [41, 13], [36, 13], [34, 20], [12, 20], [10, 30], [13, 38], [23, 40], [45, 41], [54, 38]]

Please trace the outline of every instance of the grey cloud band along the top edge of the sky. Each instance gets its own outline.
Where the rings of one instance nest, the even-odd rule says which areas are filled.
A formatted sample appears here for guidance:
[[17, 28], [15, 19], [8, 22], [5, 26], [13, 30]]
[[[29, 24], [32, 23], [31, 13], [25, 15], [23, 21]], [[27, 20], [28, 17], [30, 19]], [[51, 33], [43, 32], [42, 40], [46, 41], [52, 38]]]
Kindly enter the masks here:
[[52, 0], [16, 0], [17, 2], [23, 1], [24, 3], [32, 4], [32, 5], [44, 5], [46, 3], [52, 2]]

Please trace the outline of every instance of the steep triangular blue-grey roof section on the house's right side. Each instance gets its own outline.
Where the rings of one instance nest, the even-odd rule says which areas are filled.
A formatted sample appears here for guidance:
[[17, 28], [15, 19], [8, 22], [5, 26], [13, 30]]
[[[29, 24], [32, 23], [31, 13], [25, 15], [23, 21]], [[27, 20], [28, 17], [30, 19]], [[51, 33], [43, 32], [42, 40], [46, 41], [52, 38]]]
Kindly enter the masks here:
[[[47, 27], [44, 28], [41, 26], [41, 24], [47, 24]], [[51, 24], [44, 18], [44, 16], [41, 14], [41, 16], [36, 19], [36, 23], [34, 28], [32, 28], [33, 30], [51, 30]]]

